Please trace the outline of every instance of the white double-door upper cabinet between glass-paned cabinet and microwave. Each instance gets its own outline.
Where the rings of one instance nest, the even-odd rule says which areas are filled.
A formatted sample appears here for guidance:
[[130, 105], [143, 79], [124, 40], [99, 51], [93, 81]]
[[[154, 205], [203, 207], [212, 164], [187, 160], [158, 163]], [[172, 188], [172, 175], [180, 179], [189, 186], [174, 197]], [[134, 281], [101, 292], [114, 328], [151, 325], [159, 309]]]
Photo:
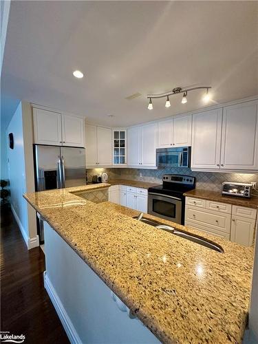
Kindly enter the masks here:
[[157, 123], [127, 130], [128, 165], [156, 166]]

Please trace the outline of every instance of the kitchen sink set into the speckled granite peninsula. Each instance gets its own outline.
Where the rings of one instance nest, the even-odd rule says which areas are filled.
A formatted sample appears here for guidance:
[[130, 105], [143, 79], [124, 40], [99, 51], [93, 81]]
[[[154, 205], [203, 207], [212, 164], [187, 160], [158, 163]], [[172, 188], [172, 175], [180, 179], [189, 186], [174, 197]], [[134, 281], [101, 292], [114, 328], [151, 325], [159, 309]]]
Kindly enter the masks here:
[[166, 230], [166, 232], [169, 232], [173, 235], [177, 235], [178, 237], [182, 237], [184, 239], [190, 240], [195, 242], [196, 244], [205, 246], [207, 248], [211, 248], [211, 250], [215, 250], [220, 253], [224, 253], [224, 250], [221, 246], [215, 244], [212, 241], [208, 241], [204, 238], [197, 237], [196, 235], [186, 233], [182, 230], [178, 230], [173, 228], [172, 226], [167, 226], [165, 224], [162, 224], [161, 222], [155, 221], [153, 219], [148, 219], [147, 217], [143, 216], [143, 213], [140, 213], [138, 216], [134, 216], [133, 219], [137, 219], [140, 222], [144, 222], [144, 224], [149, 224], [150, 226], [153, 226], [155, 228]]

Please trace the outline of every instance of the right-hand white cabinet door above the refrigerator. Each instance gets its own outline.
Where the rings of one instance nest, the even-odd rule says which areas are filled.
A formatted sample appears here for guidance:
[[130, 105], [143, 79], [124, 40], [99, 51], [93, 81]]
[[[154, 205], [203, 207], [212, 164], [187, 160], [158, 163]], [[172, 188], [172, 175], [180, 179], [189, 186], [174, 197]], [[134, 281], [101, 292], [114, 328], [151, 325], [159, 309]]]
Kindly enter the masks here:
[[85, 147], [84, 118], [62, 115], [63, 146]]

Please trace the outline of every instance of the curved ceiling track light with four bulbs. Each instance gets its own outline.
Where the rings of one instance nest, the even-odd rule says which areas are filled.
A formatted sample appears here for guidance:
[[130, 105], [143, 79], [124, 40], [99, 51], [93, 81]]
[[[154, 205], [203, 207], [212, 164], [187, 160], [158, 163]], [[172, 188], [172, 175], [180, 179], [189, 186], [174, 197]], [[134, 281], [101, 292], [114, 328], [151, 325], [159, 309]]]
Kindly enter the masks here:
[[152, 110], [153, 109], [153, 105], [152, 105], [152, 101], [151, 99], [153, 98], [164, 98], [166, 97], [166, 104], [165, 107], [170, 107], [170, 100], [169, 100], [169, 96], [173, 96], [174, 94], [179, 94], [182, 93], [183, 94], [183, 98], [182, 98], [182, 104], [187, 103], [187, 94], [188, 92], [194, 91], [195, 89], [206, 89], [206, 94], [203, 97], [203, 100], [205, 103], [208, 103], [208, 101], [211, 99], [210, 95], [208, 94], [208, 89], [210, 89], [211, 86], [199, 86], [199, 87], [192, 87], [189, 89], [182, 89], [181, 87], [175, 87], [174, 89], [172, 89], [172, 91], [170, 92], [166, 92], [166, 93], [162, 93], [162, 94], [148, 94], [147, 98], [149, 99], [149, 105], [148, 105], [148, 109]]

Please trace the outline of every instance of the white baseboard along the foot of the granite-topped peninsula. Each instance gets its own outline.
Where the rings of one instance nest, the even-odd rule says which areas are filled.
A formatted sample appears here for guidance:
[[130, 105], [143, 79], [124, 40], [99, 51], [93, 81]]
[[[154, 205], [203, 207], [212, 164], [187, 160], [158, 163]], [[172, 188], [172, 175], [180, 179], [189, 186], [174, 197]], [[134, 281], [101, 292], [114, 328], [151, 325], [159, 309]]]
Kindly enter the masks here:
[[61, 323], [63, 325], [63, 328], [65, 329], [69, 341], [72, 344], [82, 344], [82, 341], [80, 341], [80, 337], [78, 336], [71, 319], [69, 319], [69, 316], [65, 311], [65, 308], [63, 307], [63, 304], [61, 303], [58, 294], [56, 294], [56, 290], [54, 289], [50, 279], [47, 277], [47, 272], [44, 271], [43, 275], [45, 290], [47, 290], [47, 294], [49, 295], [54, 305], [56, 313], [58, 314], [59, 319], [61, 320]]

